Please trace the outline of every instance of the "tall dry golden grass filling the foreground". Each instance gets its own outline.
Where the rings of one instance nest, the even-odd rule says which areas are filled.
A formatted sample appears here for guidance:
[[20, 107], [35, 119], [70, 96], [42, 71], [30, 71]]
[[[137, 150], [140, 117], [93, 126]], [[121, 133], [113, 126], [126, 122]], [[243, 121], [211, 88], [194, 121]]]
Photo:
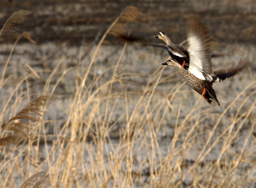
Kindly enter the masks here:
[[[29, 67], [16, 80], [0, 116], [0, 137], [9, 143], [0, 146], [1, 187], [255, 186], [255, 80], [228, 102], [220, 100], [221, 107], [208, 105], [183, 89], [184, 82], [176, 72], [169, 74], [169, 67], [148, 74], [127, 71], [131, 65], [124, 59], [126, 43], [114, 66], [99, 74], [95, 59], [120, 17], [86, 67], [61, 67], [67, 55], [53, 71]], [[7, 69], [0, 91], [13, 83]], [[43, 92], [31, 93], [31, 77], [44, 80]], [[49, 95], [59, 95], [61, 101], [58, 89], [63, 82], [68, 84], [66, 92], [75, 90], [70, 105], [61, 106], [68, 114], [47, 120], [43, 112], [53, 99]], [[42, 97], [30, 102], [34, 95]], [[19, 110], [25, 99], [28, 106]], [[15, 134], [8, 137], [10, 130], [32, 136], [20, 142]]]

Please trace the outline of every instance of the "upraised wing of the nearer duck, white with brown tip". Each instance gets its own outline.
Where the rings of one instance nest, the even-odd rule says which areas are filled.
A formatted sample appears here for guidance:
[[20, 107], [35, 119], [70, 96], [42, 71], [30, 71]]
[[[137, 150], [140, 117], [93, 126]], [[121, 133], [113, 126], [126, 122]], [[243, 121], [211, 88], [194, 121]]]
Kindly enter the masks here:
[[202, 80], [212, 81], [210, 36], [197, 20], [190, 20], [187, 27], [189, 68], [192, 74]]

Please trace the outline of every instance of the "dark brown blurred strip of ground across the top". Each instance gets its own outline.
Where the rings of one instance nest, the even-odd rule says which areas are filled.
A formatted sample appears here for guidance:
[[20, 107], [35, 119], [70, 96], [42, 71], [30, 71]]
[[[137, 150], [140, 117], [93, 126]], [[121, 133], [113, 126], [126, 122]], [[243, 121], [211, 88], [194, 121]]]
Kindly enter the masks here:
[[[20, 25], [37, 43], [62, 43], [79, 46], [97, 42], [108, 26], [128, 5], [144, 14], [139, 25], [132, 25], [138, 35], [153, 40], [159, 31], [168, 34], [173, 43], [186, 39], [185, 19], [199, 16], [213, 37], [225, 43], [256, 43], [256, 4], [253, 0], [172, 0], [172, 1], [29, 1], [2, 0], [0, 25], [20, 9], [32, 14]], [[16, 40], [13, 35], [1, 42]], [[109, 39], [115, 43], [115, 39]], [[113, 41], [114, 40], [114, 41]]]

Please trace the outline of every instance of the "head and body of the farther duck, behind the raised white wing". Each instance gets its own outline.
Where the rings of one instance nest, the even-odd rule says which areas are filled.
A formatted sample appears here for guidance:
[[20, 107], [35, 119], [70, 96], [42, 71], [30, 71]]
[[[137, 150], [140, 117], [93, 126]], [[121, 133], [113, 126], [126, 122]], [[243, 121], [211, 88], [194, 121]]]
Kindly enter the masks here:
[[182, 67], [188, 69], [189, 55], [184, 46], [172, 43], [170, 38], [164, 32], [159, 32], [158, 35], [154, 36], [154, 38], [163, 40], [166, 45], [158, 44], [158, 46], [167, 49], [171, 59], [176, 59], [176, 61], [178, 61]]

